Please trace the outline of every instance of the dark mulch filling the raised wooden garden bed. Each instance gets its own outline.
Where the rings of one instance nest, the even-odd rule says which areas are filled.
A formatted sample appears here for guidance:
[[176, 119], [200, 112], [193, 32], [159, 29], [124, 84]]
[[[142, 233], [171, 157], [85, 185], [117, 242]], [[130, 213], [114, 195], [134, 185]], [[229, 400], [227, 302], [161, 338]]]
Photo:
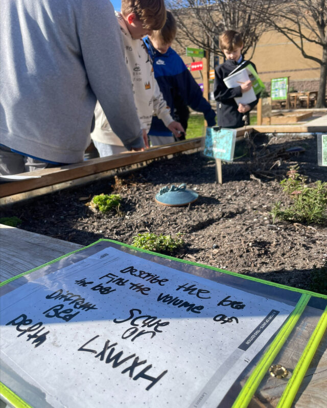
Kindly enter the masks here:
[[[286, 154], [284, 149], [292, 146], [305, 152]], [[262, 156], [250, 164], [242, 157], [223, 165], [222, 185], [215, 182], [214, 161], [200, 152], [179, 154], [115, 180], [105, 178], [6, 206], [1, 217], [17, 216], [22, 220], [19, 228], [83, 245], [99, 238], [131, 244], [142, 232], [180, 232], [186, 246], [179, 258], [308, 289], [313, 265], [322, 266], [327, 257], [326, 226], [273, 223], [269, 212], [275, 201], [287, 202], [278, 180], [290, 165], [299, 164], [311, 183], [327, 179], [325, 168], [317, 166], [316, 138], [258, 135], [255, 149]], [[245, 143], [238, 143], [236, 156], [245, 150]], [[199, 193], [192, 205], [166, 207], [154, 201], [160, 188], [181, 183]], [[117, 192], [123, 199], [122, 216], [95, 213], [86, 206], [96, 194]]]

